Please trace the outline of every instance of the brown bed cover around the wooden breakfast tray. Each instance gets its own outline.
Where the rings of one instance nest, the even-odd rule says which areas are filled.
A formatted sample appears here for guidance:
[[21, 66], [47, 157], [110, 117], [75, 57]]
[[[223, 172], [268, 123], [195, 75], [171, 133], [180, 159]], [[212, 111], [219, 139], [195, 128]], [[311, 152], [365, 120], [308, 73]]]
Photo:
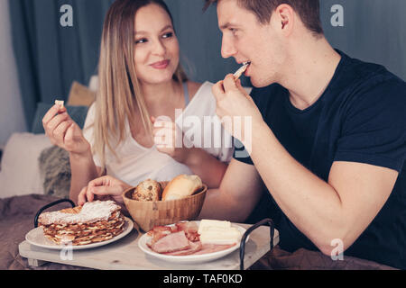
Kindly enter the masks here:
[[[27, 194], [0, 199], [0, 269], [2, 270], [87, 270], [87, 268], [48, 263], [39, 267], [29, 266], [28, 260], [18, 253], [18, 245], [25, 234], [34, 227], [34, 216], [44, 205], [60, 198], [45, 194]], [[60, 203], [51, 210], [69, 207]], [[50, 210], [50, 211], [51, 211]], [[299, 249], [294, 253], [274, 247], [251, 270], [391, 270], [372, 261], [345, 257], [333, 261], [320, 252]]]

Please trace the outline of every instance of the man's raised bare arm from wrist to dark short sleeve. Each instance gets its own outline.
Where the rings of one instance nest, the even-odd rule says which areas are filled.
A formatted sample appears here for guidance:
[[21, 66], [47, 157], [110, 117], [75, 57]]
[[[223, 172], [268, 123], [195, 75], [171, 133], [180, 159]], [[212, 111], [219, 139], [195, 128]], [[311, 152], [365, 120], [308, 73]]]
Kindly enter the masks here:
[[291, 157], [264, 122], [255, 129], [251, 157], [281, 210], [326, 255], [335, 238], [345, 249], [354, 243], [398, 176], [389, 168], [335, 162], [327, 183]]

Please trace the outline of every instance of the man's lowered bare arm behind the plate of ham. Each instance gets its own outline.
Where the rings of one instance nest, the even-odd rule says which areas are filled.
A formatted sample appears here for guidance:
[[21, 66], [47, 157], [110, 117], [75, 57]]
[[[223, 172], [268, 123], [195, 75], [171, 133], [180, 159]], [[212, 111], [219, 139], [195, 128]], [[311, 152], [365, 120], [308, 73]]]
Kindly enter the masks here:
[[252, 165], [232, 159], [218, 189], [208, 190], [198, 219], [243, 222], [261, 197], [263, 183]]

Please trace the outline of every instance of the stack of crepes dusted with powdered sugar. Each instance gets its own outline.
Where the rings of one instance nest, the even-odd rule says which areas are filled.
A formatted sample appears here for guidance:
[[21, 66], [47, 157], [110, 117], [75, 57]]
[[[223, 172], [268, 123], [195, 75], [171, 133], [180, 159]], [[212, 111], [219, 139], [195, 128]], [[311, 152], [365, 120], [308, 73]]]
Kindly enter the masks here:
[[46, 238], [59, 245], [87, 245], [123, 232], [125, 217], [120, 210], [113, 201], [86, 202], [83, 206], [42, 213], [39, 226]]

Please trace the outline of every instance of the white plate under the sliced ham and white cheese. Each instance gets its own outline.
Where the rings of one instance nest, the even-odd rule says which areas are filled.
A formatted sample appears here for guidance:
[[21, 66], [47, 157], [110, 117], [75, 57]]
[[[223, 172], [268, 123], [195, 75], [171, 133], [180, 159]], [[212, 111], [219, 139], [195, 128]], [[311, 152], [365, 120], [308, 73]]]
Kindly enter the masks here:
[[[196, 221], [199, 223], [199, 221]], [[172, 225], [167, 225], [167, 226], [173, 226]], [[244, 235], [246, 229], [244, 229], [241, 226], [231, 224], [232, 227], [235, 227], [236, 229], [239, 229], [242, 232], [242, 235]], [[246, 241], [248, 241], [249, 236], [246, 238]], [[164, 254], [159, 254], [154, 251], [150, 247], [146, 245], [148, 241], [151, 239], [151, 236], [148, 236], [147, 234], [143, 234], [143, 236], [138, 240], [138, 247], [140, 247], [144, 253], [152, 256], [159, 258], [161, 260], [173, 262], [173, 263], [181, 263], [181, 264], [192, 264], [192, 263], [203, 263], [203, 262], [208, 262], [208, 261], [213, 261], [221, 257], [225, 257], [226, 255], [234, 252], [236, 249], [240, 247], [240, 243], [237, 243], [233, 247], [229, 247], [228, 249], [218, 251], [218, 252], [213, 252], [213, 253], [208, 253], [208, 254], [202, 254], [202, 255], [186, 255], [186, 256], [171, 256], [171, 255], [164, 255]], [[245, 243], [246, 243], [245, 241]]]

